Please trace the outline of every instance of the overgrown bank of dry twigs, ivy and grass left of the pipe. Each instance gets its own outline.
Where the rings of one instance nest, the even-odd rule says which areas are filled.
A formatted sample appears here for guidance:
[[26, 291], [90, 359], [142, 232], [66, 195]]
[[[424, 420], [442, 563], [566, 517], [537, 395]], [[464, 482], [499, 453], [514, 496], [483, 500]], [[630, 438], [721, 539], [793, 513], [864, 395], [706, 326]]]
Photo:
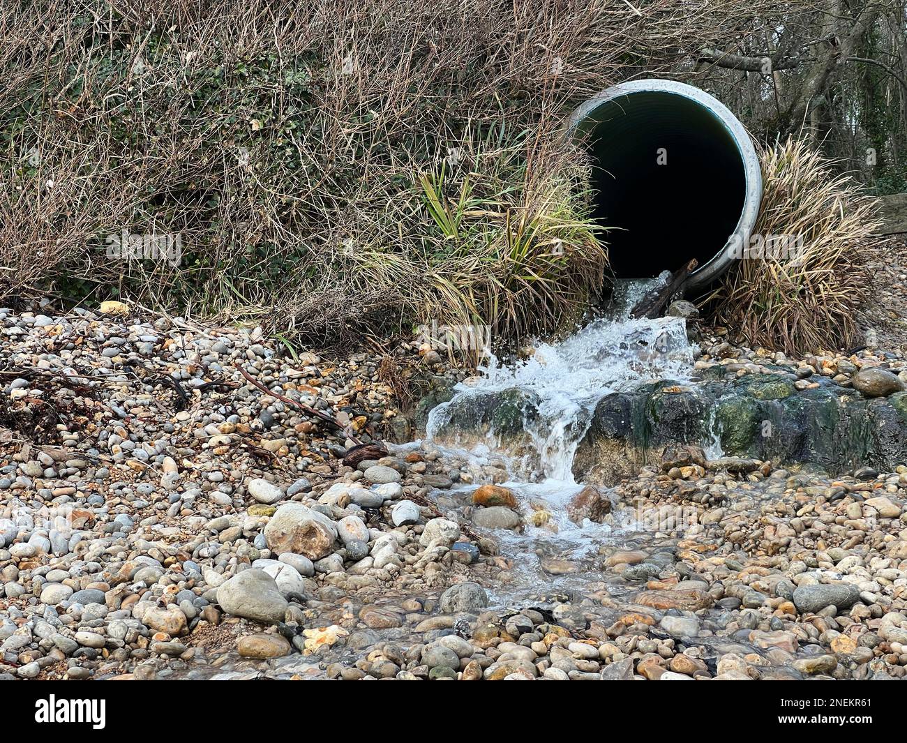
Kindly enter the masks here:
[[[756, 5], [0, 4], [0, 300], [138, 300], [321, 347], [553, 328], [604, 266], [563, 117]], [[123, 230], [179, 235], [180, 265], [108, 259]]]

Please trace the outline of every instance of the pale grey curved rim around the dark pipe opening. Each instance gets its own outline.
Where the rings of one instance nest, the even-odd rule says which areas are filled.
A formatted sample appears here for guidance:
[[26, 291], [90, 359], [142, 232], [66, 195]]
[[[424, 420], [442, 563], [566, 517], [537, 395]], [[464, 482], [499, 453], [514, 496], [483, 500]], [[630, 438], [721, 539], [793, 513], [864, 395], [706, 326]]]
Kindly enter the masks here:
[[743, 209], [740, 210], [740, 219], [737, 220], [735, 230], [727, 236], [724, 248], [717, 250], [712, 259], [689, 275], [685, 288], [707, 286], [730, 267], [731, 261], [736, 257], [736, 240], [740, 240], [740, 245], [748, 245], [750, 236], [756, 227], [756, 218], [759, 216], [759, 206], [762, 203], [762, 167], [759, 164], [756, 147], [746, 132], [746, 127], [715, 96], [688, 83], [678, 83], [674, 80], [663, 80], [660, 78], [618, 83], [600, 93], [596, 93], [588, 101], [581, 103], [576, 111], [571, 114], [567, 128], [568, 134], [572, 134], [580, 122], [586, 119], [602, 103], [608, 103], [615, 98], [632, 95], [633, 93], [670, 93], [698, 103], [706, 108], [708, 112], [715, 115], [718, 122], [724, 126], [731, 139], [734, 140], [737, 152], [740, 153], [746, 178], [746, 196]]

